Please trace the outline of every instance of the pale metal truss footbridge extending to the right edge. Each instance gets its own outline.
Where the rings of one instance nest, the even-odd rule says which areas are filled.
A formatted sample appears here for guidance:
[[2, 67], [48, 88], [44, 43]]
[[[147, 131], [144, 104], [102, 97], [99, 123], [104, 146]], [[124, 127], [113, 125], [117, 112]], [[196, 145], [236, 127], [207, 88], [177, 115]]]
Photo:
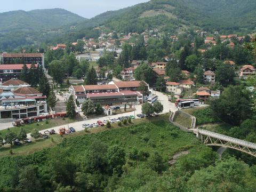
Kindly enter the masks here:
[[228, 137], [226, 135], [222, 135], [219, 133], [214, 133], [206, 130], [194, 129], [193, 132], [197, 135], [197, 138], [201, 139], [201, 141], [205, 145], [221, 146], [221, 147], [236, 149], [256, 157], [255, 143]]

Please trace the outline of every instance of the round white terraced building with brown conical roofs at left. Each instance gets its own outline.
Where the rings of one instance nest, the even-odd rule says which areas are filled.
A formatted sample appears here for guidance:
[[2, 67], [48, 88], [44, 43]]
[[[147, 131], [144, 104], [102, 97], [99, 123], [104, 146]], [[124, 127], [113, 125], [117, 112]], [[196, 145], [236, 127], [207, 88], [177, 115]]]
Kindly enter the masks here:
[[0, 88], [0, 119], [27, 118], [47, 113], [46, 96], [30, 86]]

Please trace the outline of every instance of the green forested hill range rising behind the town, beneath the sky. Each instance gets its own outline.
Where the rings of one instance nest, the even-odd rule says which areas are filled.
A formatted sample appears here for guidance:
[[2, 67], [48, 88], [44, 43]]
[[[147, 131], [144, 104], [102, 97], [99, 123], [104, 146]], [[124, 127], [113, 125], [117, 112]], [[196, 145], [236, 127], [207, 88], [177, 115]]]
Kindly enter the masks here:
[[[14, 13], [19, 17], [14, 17]], [[97, 38], [100, 31], [93, 28], [98, 26], [120, 33], [141, 33], [157, 27], [170, 34], [203, 29], [244, 35], [255, 31], [255, 14], [254, 0], [151, 0], [91, 19], [60, 9], [8, 12], [0, 14], [0, 51], [42, 42], [53, 45], [74, 42], [82, 37]], [[75, 28], [67, 25], [70, 22]], [[5, 33], [10, 29], [11, 32]]]

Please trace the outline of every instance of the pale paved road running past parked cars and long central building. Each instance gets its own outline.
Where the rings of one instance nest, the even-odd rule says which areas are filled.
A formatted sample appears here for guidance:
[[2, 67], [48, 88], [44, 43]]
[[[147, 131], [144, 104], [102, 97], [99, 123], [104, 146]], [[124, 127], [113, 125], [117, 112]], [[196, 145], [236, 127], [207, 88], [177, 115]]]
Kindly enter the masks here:
[[[168, 101], [168, 97], [166, 95], [164, 95], [161, 92], [156, 92], [156, 95], [158, 96], [158, 101], [160, 101], [164, 106], [163, 113], [168, 113], [170, 110], [171, 111], [176, 111], [177, 110], [174, 103], [171, 103], [170, 101]], [[138, 118], [136, 115], [141, 114], [141, 105], [135, 106], [135, 109], [136, 109], [135, 110], [135, 118]], [[134, 111], [124, 113], [124, 114], [104, 116], [104, 117], [99, 117], [99, 118], [92, 118], [92, 119], [89, 118], [85, 121], [70, 123], [69, 127], [74, 127], [76, 131], [83, 131], [84, 128], [82, 127], [82, 125], [85, 124], [85, 123], [86, 124], [92, 124], [92, 123], [96, 123], [98, 120], [103, 121], [104, 119], [108, 120], [110, 118], [118, 118], [118, 117], [122, 117], [122, 116], [130, 116], [130, 115], [134, 115]], [[59, 133], [59, 129], [61, 127], [67, 128], [68, 125], [56, 126], [56, 127], [53, 127], [52, 129], [54, 129], [56, 133]], [[47, 129], [47, 130], [49, 130], [49, 129]], [[42, 130], [40, 132], [43, 133], [44, 131], [46, 131], [46, 130]], [[30, 134], [28, 134], [28, 137], [30, 138]]]

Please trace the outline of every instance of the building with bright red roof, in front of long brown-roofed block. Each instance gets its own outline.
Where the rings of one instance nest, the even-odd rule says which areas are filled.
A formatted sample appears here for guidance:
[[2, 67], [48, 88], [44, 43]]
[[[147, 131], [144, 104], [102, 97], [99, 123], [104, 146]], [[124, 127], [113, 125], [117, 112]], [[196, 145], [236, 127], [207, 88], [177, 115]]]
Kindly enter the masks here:
[[[30, 69], [31, 64], [26, 64], [28, 69]], [[38, 64], [35, 64], [37, 67]], [[4, 64], [0, 65], [0, 79], [2, 82], [8, 81], [12, 78], [19, 78], [21, 74], [23, 64]]]

